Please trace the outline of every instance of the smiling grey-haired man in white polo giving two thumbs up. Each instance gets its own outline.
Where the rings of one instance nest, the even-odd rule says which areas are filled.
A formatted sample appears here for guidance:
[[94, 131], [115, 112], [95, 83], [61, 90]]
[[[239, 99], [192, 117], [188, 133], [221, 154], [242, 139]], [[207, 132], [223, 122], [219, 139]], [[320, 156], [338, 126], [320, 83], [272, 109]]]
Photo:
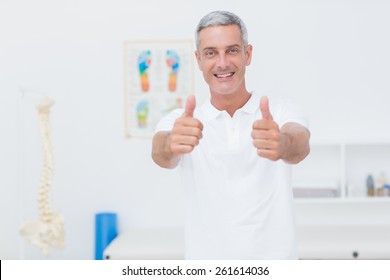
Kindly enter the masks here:
[[195, 52], [210, 100], [189, 96], [157, 125], [153, 160], [180, 166], [187, 259], [296, 259], [291, 164], [309, 153], [293, 104], [248, 92], [244, 23], [216, 11], [201, 19]]

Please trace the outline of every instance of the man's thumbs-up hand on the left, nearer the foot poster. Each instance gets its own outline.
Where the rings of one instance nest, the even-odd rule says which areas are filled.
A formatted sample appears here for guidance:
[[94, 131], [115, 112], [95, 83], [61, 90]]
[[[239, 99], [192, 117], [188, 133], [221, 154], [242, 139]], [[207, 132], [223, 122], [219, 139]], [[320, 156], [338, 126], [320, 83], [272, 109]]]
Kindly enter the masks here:
[[202, 138], [203, 124], [194, 118], [195, 107], [195, 96], [188, 96], [183, 115], [173, 125], [170, 148], [175, 156], [192, 152]]

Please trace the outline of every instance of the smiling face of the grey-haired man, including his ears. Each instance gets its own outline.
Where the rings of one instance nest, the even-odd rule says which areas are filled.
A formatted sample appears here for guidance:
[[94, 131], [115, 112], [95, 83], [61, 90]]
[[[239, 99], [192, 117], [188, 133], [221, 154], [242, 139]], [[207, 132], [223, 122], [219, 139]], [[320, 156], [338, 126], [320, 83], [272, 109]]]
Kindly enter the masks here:
[[202, 29], [195, 55], [211, 93], [229, 95], [246, 90], [245, 68], [251, 62], [252, 46], [244, 47], [237, 25]]

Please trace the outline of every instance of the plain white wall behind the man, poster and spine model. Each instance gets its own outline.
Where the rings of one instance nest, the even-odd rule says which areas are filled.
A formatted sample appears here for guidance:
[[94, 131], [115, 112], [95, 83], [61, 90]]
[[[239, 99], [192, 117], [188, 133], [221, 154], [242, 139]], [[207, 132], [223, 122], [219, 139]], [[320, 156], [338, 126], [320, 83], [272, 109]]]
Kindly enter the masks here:
[[118, 212], [119, 230], [182, 224], [176, 171], [153, 164], [150, 140], [124, 138], [123, 42], [192, 39], [216, 9], [247, 23], [249, 89], [296, 99], [313, 141], [390, 139], [388, 1], [1, 0], [0, 258], [43, 258], [18, 233], [38, 215], [42, 160], [37, 115], [21, 88], [56, 101], [53, 206], [67, 246], [49, 258], [93, 258], [99, 211]]

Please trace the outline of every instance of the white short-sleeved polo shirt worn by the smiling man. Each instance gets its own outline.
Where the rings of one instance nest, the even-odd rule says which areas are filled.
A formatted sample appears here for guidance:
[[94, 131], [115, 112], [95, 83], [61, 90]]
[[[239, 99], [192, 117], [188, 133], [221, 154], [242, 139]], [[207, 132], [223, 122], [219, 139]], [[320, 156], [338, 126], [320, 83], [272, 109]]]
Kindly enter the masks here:
[[[253, 122], [261, 118], [260, 96], [252, 94], [233, 117], [206, 101], [194, 112], [203, 138], [179, 164], [186, 196], [186, 259], [296, 259], [291, 166], [257, 155]], [[291, 103], [270, 99], [270, 112], [282, 127], [307, 126]], [[169, 131], [177, 109], [156, 131]]]

